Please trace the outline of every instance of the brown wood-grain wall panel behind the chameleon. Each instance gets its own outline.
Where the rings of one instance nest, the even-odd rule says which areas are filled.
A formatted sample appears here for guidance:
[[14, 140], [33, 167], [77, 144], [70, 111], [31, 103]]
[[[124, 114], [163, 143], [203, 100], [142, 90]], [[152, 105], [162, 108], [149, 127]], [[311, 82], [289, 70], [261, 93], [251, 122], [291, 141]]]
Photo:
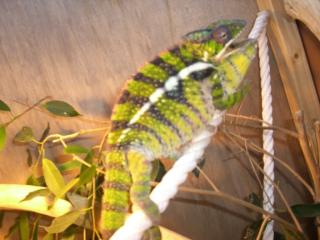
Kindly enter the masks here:
[[[87, 119], [107, 120], [125, 80], [159, 51], [179, 41], [181, 35], [221, 18], [246, 19], [247, 33], [257, 11], [254, 0], [1, 0], [0, 99], [18, 113], [25, 108], [23, 104], [52, 96], [69, 102]], [[276, 63], [271, 59], [275, 124], [293, 129]], [[260, 117], [257, 62], [248, 79], [251, 92], [234, 111]], [[9, 117], [1, 113], [0, 121]], [[8, 129], [8, 144], [0, 153], [1, 183], [23, 183], [30, 173], [25, 146], [11, 143], [14, 134], [28, 125], [40, 137], [47, 122], [52, 132], [61, 133], [104, 126], [81, 119], [57, 119], [38, 110], [30, 112]], [[259, 130], [231, 130], [260, 144]], [[94, 144], [100, 137], [82, 142]], [[275, 137], [276, 155], [305, 177], [297, 141], [283, 134], [276, 133]], [[54, 159], [61, 152], [54, 147], [47, 154]], [[261, 193], [245, 154], [223, 134], [217, 134], [205, 158], [204, 171], [221, 190], [239, 198]], [[259, 154], [253, 158], [261, 161]], [[309, 199], [280, 166], [276, 178], [290, 204]], [[185, 185], [210, 189], [203, 177], [192, 175]], [[277, 208], [283, 208], [279, 198], [276, 201]], [[221, 199], [179, 193], [164, 213], [162, 225], [195, 240], [240, 239], [255, 217]]]

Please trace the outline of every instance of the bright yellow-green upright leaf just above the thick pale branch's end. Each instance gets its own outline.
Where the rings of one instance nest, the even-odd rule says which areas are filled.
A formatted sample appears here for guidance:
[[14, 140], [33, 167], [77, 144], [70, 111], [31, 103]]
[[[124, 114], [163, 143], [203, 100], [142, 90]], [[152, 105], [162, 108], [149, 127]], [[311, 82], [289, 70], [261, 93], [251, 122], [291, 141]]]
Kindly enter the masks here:
[[49, 190], [54, 194], [58, 195], [62, 188], [65, 186], [64, 179], [59, 172], [56, 165], [49, 159], [44, 158], [42, 160], [42, 171], [44, 180]]

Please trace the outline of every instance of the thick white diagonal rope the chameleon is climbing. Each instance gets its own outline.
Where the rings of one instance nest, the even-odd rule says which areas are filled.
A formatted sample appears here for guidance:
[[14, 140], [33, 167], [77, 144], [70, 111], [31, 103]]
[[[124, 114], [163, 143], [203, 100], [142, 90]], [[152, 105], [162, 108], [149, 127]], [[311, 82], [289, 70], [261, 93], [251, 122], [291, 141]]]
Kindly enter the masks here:
[[[257, 20], [261, 20], [261, 18], [259, 18], [261, 15], [262, 13], [259, 14]], [[253, 28], [255, 29], [254, 37], [258, 37], [263, 31], [266, 21], [267, 18], [265, 18], [265, 20], [262, 19], [259, 22], [259, 26], [256, 26], [258, 25], [258, 22], [256, 21]], [[175, 196], [179, 185], [186, 180], [188, 173], [197, 166], [198, 160], [202, 157], [205, 148], [210, 143], [211, 137], [216, 133], [217, 127], [222, 122], [223, 116], [224, 111], [215, 111], [210, 123], [212, 128], [201, 132], [192, 140], [192, 142], [184, 149], [182, 156], [166, 173], [161, 182], [153, 189], [150, 198], [157, 204], [160, 213], [164, 212], [167, 208], [170, 199]], [[141, 209], [134, 206], [133, 213], [126, 219], [124, 225], [115, 232], [111, 237], [111, 240], [140, 240], [144, 231], [151, 226], [151, 220]]]

